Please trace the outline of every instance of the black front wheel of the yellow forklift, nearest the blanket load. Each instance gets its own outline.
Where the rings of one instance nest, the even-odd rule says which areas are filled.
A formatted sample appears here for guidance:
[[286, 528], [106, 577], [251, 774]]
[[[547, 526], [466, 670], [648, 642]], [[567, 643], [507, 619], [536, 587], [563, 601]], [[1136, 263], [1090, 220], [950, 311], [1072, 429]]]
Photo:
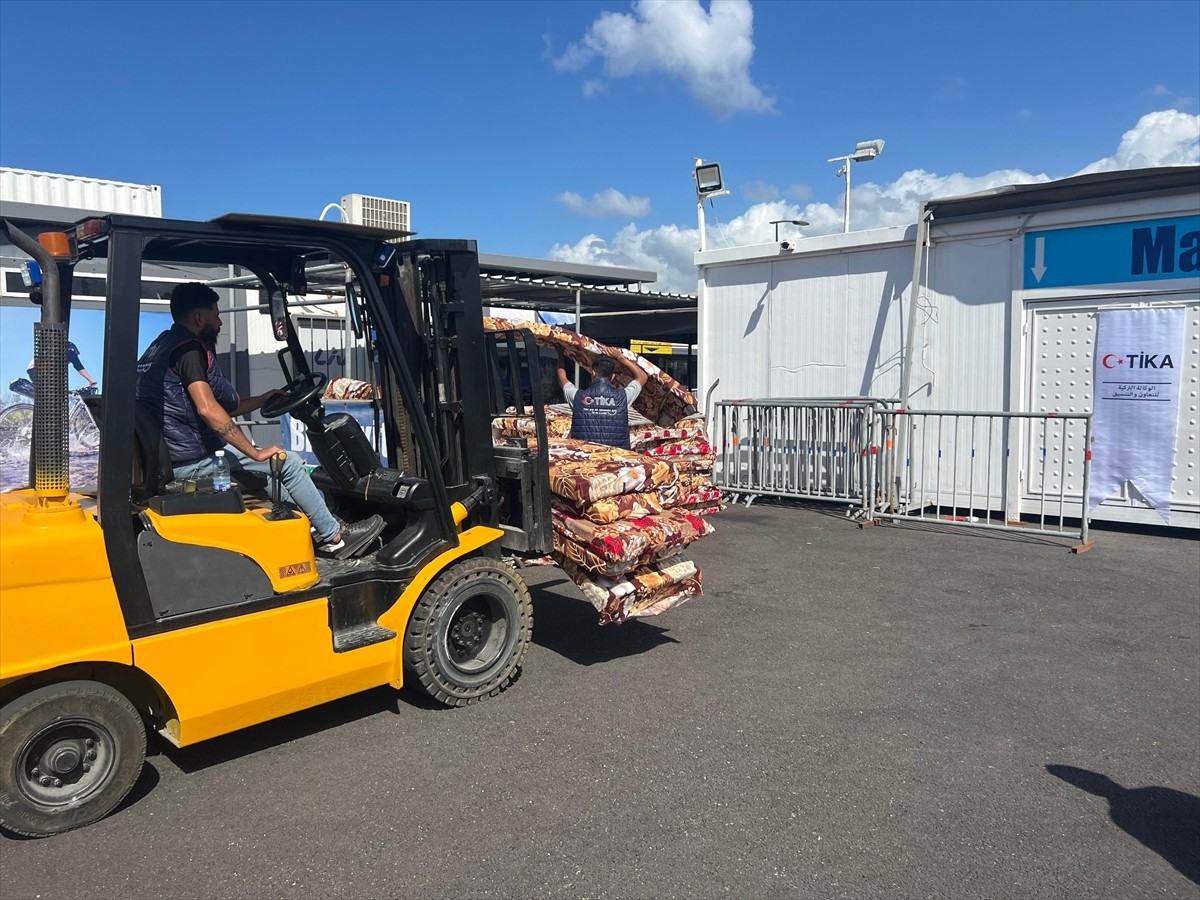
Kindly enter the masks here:
[[529, 588], [493, 559], [463, 559], [421, 594], [404, 635], [404, 682], [448, 707], [517, 679], [533, 636]]

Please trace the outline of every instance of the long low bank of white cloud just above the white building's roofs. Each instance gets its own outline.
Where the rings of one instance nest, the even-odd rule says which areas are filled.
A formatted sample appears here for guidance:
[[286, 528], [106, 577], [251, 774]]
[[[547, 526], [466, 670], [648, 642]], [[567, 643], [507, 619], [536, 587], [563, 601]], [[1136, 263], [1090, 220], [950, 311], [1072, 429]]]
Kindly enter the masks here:
[[[1144, 115], [1130, 131], [1126, 132], [1112, 156], [1097, 160], [1075, 174], [1198, 163], [1200, 163], [1200, 116], [1166, 109]], [[854, 172], [858, 175], [860, 169]], [[850, 203], [852, 227], [854, 230], [864, 230], [907, 226], [917, 221], [917, 209], [922, 200], [976, 193], [1002, 185], [1027, 185], [1050, 180], [1050, 175], [1031, 174], [1020, 169], [997, 169], [984, 175], [964, 173], [937, 175], [922, 169], [911, 169], [886, 185], [870, 181], [856, 182]], [[793, 185], [788, 188], [788, 194], [794, 196], [796, 188], [806, 187], [806, 185]], [[799, 234], [808, 236], [833, 234], [842, 229], [840, 197], [834, 198], [833, 203], [804, 203], [803, 199], [799, 203], [779, 199], [756, 203], [728, 222], [716, 218], [719, 209], [714, 206], [713, 212], [708, 215], [710, 250], [766, 244], [774, 239], [774, 226], [770, 222], [776, 218], [808, 221], [810, 223], [808, 227], [798, 229]], [[797, 233], [792, 232], [791, 227], [785, 227], [790, 233]], [[782, 234], [781, 230], [780, 236]], [[629, 224], [617, 232], [611, 240], [589, 234], [576, 244], [556, 244], [548, 257], [594, 265], [653, 269], [659, 274], [659, 280], [649, 287], [659, 290], [691, 292], [696, 289], [692, 254], [698, 247], [700, 233], [696, 227], [665, 224], [638, 230], [636, 226]]]

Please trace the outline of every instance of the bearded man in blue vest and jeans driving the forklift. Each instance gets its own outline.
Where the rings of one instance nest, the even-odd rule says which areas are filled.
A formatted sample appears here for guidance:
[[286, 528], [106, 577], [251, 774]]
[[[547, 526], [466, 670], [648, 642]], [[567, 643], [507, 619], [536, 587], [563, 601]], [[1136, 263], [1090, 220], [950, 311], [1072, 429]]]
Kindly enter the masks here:
[[[234, 473], [266, 475], [271, 456], [281, 452], [278, 446], [254, 446], [233, 421], [233, 416], [258, 409], [280, 391], [242, 400], [221, 372], [216, 364], [218, 299], [212, 288], [198, 282], [178, 284], [170, 294], [174, 324], [138, 360], [137, 400], [161, 425], [176, 478], [211, 474], [215, 451], [227, 445]], [[380, 516], [353, 524], [336, 518], [295, 454], [286, 455], [282, 481], [284, 499], [308, 516], [322, 556], [359, 556], [384, 529]]]

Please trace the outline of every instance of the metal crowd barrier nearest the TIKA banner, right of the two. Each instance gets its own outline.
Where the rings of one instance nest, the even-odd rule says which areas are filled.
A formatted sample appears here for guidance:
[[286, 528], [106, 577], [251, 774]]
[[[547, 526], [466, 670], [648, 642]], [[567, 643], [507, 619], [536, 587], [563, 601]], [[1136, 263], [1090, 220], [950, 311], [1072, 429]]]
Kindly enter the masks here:
[[1088, 546], [1091, 414], [876, 409], [870, 438], [868, 520], [1078, 534]]

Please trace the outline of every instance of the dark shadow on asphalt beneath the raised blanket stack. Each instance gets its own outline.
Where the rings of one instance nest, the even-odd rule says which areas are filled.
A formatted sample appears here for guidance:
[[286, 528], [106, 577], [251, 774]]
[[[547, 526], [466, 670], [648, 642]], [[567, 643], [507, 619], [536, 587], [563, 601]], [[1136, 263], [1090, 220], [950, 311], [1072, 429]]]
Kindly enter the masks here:
[[[552, 590], [566, 584], [571, 593]], [[533, 642], [580, 666], [594, 666], [625, 656], [648, 653], [665, 643], [679, 643], [665, 628], [644, 619], [620, 625], [601, 625], [595, 607], [574, 595], [568, 578], [530, 584], [533, 596]]]

